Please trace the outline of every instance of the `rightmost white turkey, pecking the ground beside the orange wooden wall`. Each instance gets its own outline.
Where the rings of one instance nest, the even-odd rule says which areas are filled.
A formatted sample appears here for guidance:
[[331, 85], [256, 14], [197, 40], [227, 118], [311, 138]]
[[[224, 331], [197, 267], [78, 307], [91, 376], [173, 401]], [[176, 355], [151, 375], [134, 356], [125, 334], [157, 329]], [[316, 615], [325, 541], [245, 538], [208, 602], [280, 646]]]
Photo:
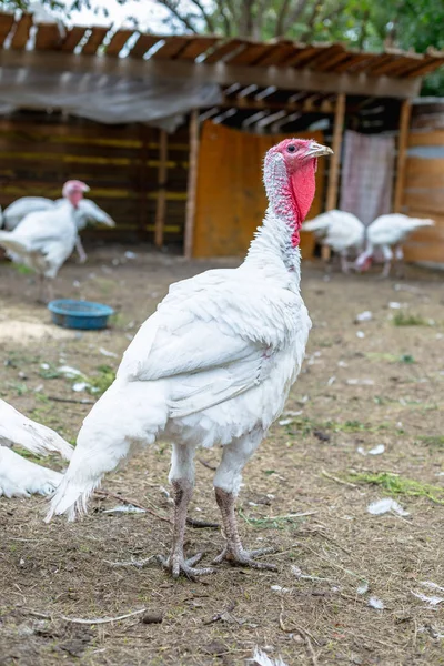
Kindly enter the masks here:
[[359, 271], [366, 271], [372, 265], [375, 251], [381, 250], [384, 258], [382, 276], [387, 278], [392, 268], [393, 250], [397, 261], [404, 258], [402, 243], [407, 236], [422, 226], [433, 226], [433, 220], [408, 218], [401, 213], [380, 215], [367, 226], [366, 248], [356, 259], [355, 266]]

